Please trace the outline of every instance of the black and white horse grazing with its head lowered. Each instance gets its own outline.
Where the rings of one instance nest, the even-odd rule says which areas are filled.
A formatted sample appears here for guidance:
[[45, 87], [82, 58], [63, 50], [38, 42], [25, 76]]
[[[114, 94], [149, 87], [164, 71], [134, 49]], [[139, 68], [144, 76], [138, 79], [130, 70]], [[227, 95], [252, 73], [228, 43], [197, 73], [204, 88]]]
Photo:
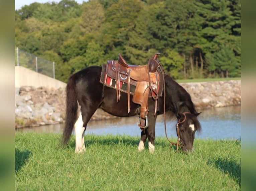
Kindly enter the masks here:
[[[119, 116], [129, 117], [138, 114], [139, 104], [130, 102], [128, 113], [127, 94], [121, 92], [121, 99], [117, 102], [116, 90], [106, 87], [100, 83], [102, 67], [91, 66], [85, 68], [69, 78], [66, 89], [66, 121], [63, 130], [62, 143], [66, 145], [75, 128], [76, 149], [75, 152], [86, 150], [84, 133], [87, 123], [97, 110], [102, 108], [106, 112]], [[141, 131], [141, 138], [138, 150], [143, 150], [145, 141], [148, 138], [150, 152], [155, 150], [155, 122], [156, 117], [165, 111], [177, 117], [177, 135], [182, 144], [181, 149], [188, 151], [193, 149], [195, 132], [201, 130], [200, 122], [190, 95], [186, 90], [176, 83], [168, 75], [164, 75], [165, 100], [164, 96], [158, 97], [158, 110], [155, 113], [155, 100], [148, 98], [148, 127]], [[132, 100], [130, 95], [130, 100]], [[165, 104], [165, 105], [164, 105]], [[139, 130], [139, 128], [138, 128]], [[178, 145], [177, 145], [178, 147]]]

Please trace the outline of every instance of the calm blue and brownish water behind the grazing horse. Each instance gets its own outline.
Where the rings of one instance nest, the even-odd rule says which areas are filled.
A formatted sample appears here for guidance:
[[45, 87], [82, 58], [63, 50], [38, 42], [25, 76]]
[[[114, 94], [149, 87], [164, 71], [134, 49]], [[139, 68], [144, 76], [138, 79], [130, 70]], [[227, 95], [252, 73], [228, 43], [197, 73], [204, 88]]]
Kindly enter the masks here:
[[[241, 106], [230, 106], [204, 109], [198, 116], [202, 132], [195, 137], [201, 139], [240, 139], [241, 138]], [[140, 136], [137, 126], [138, 117], [122, 117], [108, 120], [90, 121], [85, 134], [95, 135], [130, 135]], [[176, 119], [166, 119], [168, 137], [176, 137]], [[16, 131], [62, 133], [63, 124], [45, 125], [40, 127], [20, 128]], [[156, 121], [156, 137], [165, 137], [163, 115]]]

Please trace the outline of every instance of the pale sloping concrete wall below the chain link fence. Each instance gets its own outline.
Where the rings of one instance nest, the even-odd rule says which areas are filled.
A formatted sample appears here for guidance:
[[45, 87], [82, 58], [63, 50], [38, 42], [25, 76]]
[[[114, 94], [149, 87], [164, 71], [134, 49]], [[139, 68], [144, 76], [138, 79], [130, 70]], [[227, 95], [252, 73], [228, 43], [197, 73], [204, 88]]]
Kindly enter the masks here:
[[66, 83], [50, 78], [43, 74], [39, 74], [22, 66], [15, 66], [15, 87], [34, 86], [47, 88], [65, 88]]

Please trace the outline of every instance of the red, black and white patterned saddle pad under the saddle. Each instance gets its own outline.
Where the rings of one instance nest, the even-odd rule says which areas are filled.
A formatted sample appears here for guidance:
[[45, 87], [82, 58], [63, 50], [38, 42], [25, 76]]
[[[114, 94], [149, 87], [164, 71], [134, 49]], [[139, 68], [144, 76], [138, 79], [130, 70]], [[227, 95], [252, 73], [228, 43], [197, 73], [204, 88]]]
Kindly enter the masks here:
[[[116, 90], [116, 80], [107, 75], [105, 64], [102, 65], [100, 83], [103, 84], [104, 86], [107, 86], [109, 88], [113, 88]], [[130, 84], [130, 94], [131, 95], [134, 94], [135, 88], [136, 88], [136, 86]], [[127, 94], [127, 83], [120, 81], [120, 91]]]

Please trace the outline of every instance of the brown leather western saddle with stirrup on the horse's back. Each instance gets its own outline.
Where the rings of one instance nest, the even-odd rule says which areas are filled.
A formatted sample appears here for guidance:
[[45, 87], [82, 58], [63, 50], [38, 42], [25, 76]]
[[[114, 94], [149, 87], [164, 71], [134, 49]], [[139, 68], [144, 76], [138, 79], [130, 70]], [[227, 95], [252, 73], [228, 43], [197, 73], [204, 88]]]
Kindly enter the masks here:
[[[117, 101], [121, 97], [120, 82], [127, 84], [128, 113], [130, 112], [130, 94], [133, 94], [132, 101], [140, 104], [140, 116], [138, 126], [141, 130], [148, 127], [148, 98], [155, 100], [155, 112], [157, 112], [157, 99], [162, 95], [164, 83], [164, 71], [156, 53], [147, 65], [135, 66], [128, 65], [119, 54], [118, 60], [108, 61], [106, 66], [106, 75], [116, 81]], [[130, 86], [136, 86], [134, 93], [130, 92]], [[151, 92], [151, 94], [149, 94]]]

